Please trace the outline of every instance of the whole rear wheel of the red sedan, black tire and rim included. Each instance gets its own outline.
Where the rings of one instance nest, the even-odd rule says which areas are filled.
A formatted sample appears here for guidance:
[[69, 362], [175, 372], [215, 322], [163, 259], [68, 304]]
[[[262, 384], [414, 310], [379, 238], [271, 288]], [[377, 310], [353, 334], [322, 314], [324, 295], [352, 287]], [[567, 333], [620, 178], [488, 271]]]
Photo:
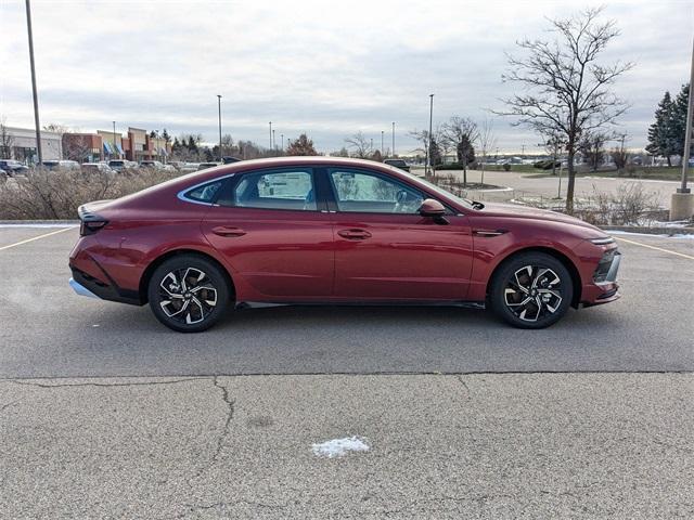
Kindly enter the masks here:
[[147, 287], [150, 308], [167, 327], [201, 333], [229, 308], [230, 288], [220, 268], [196, 255], [180, 255], [156, 268]]

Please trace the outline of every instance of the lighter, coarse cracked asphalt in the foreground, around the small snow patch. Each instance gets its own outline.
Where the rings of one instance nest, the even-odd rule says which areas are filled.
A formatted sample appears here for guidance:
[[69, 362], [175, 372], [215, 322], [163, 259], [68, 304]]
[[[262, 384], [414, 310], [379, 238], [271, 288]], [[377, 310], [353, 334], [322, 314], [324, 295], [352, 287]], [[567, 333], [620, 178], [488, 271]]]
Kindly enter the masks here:
[[693, 403], [691, 374], [0, 381], [0, 518], [694, 518]]

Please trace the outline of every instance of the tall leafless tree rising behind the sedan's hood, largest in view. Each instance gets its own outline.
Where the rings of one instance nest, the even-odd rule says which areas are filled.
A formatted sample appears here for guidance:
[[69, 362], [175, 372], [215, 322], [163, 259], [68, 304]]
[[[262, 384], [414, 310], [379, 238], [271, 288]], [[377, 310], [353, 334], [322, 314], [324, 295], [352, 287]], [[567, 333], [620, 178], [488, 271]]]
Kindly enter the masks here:
[[615, 123], [628, 105], [611, 89], [632, 63], [599, 63], [601, 53], [619, 35], [615, 21], [600, 22], [601, 9], [588, 9], [564, 20], [552, 20], [553, 41], [522, 40], [525, 57], [507, 55], [504, 81], [519, 83], [524, 93], [503, 100], [515, 116], [513, 125], [528, 126], [543, 135], [557, 133], [566, 141], [568, 188], [566, 210], [574, 211], [574, 157], [582, 133]]

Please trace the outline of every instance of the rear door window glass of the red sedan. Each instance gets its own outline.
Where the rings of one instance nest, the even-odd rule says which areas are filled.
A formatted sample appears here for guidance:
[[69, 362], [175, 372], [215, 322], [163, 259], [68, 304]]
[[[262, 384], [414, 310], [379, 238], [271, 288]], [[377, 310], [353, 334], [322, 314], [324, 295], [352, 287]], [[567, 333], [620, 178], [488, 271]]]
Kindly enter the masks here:
[[233, 205], [242, 208], [316, 211], [311, 170], [246, 173], [236, 184]]

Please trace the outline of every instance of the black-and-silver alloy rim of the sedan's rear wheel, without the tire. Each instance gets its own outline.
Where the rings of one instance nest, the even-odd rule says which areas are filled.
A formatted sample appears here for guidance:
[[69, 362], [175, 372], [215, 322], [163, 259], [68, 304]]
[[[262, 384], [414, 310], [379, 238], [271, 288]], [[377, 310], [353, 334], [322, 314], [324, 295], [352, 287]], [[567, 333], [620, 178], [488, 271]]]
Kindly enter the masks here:
[[164, 313], [181, 324], [201, 323], [217, 307], [217, 289], [210, 277], [196, 268], [168, 272], [157, 294]]

